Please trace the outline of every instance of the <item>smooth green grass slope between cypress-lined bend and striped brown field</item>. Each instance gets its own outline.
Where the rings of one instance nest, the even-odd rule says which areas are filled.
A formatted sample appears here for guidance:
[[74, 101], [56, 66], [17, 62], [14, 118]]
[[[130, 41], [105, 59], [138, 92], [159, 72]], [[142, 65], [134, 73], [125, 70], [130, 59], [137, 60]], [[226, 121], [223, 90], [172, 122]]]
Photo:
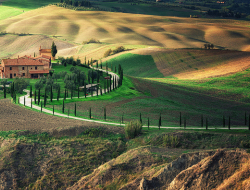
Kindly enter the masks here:
[[[108, 60], [108, 67], [118, 70], [119, 64], [124, 70], [124, 74], [135, 77], [163, 77], [157, 69], [151, 55], [123, 54]], [[106, 63], [103, 63], [105, 67]]]

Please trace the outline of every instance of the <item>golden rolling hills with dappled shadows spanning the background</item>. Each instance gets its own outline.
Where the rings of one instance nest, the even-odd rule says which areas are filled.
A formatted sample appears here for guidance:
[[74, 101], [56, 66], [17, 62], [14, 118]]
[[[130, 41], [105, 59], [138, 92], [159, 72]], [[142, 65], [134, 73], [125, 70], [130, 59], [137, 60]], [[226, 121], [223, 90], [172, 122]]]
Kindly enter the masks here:
[[56, 6], [0, 22], [0, 31], [52, 35], [76, 43], [91, 38], [103, 43], [167, 48], [200, 48], [213, 43], [215, 47], [237, 50], [249, 49], [248, 27], [245, 21], [81, 12]]

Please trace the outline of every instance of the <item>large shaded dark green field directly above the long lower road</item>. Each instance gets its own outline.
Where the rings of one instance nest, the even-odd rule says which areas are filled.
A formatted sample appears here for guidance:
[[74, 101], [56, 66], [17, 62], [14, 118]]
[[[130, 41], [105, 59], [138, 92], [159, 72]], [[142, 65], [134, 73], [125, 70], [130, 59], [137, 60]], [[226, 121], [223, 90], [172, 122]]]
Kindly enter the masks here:
[[[78, 115], [93, 119], [104, 120], [104, 107], [107, 110], [107, 120], [120, 122], [139, 119], [142, 114], [142, 121], [147, 125], [148, 118], [150, 125], [158, 126], [159, 116], [162, 117], [163, 126], [179, 126], [180, 112], [182, 114], [182, 127], [184, 118], [188, 126], [201, 126], [203, 115], [203, 126], [205, 119], [212, 127], [223, 126], [223, 116], [228, 126], [230, 116], [231, 126], [244, 126], [245, 112], [250, 113], [247, 103], [230, 101], [219, 97], [213, 97], [196, 89], [178, 86], [174, 84], [163, 84], [155, 81], [148, 81], [140, 78], [133, 78], [134, 88], [141, 93], [141, 96], [113, 97], [111, 100], [89, 100], [77, 102]], [[74, 103], [66, 103], [66, 109], [74, 112]], [[61, 107], [59, 108], [61, 109]]]

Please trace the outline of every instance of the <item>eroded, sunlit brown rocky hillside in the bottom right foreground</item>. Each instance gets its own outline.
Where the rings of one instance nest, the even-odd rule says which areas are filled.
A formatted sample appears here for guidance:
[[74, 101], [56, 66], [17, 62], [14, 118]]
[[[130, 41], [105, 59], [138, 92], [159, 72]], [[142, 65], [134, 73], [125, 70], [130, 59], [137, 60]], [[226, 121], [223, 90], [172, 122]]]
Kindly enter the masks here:
[[68, 190], [112, 187], [120, 190], [250, 188], [250, 155], [244, 151], [183, 154], [171, 163], [161, 165], [152, 159], [152, 155], [145, 157], [146, 152], [147, 148], [129, 151], [100, 166]]

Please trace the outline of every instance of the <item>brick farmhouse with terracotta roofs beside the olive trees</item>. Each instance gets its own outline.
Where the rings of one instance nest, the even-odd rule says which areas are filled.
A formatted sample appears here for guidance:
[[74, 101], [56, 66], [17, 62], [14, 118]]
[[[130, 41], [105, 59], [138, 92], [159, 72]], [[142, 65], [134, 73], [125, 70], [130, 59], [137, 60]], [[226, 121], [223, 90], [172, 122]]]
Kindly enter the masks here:
[[51, 69], [51, 58], [46, 55], [38, 57], [23, 56], [17, 59], [2, 59], [1, 78], [40, 78]]

